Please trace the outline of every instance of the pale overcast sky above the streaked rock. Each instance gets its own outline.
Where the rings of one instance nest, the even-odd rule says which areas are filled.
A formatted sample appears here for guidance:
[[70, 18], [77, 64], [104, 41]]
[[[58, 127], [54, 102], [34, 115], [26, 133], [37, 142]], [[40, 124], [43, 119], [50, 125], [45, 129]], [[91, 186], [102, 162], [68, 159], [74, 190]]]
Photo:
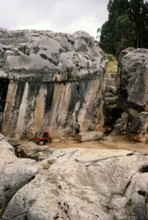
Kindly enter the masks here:
[[97, 29], [108, 19], [109, 0], [0, 0], [0, 28], [74, 33]]

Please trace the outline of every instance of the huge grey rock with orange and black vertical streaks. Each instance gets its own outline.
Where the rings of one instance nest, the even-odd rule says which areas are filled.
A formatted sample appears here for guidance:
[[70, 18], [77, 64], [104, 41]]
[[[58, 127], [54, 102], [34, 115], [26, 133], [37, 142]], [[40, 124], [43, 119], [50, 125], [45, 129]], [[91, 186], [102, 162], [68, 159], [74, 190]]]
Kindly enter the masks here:
[[88, 33], [0, 30], [0, 71], [8, 75], [2, 130], [11, 137], [60, 134], [103, 124], [107, 57]]

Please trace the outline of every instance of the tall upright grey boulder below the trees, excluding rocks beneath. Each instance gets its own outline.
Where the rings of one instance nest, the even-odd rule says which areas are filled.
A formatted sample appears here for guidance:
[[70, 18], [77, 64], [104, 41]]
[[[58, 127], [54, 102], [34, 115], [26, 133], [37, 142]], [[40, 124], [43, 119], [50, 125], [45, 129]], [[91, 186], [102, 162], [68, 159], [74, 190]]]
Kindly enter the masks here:
[[116, 82], [119, 106], [131, 118], [148, 111], [148, 49], [122, 51]]

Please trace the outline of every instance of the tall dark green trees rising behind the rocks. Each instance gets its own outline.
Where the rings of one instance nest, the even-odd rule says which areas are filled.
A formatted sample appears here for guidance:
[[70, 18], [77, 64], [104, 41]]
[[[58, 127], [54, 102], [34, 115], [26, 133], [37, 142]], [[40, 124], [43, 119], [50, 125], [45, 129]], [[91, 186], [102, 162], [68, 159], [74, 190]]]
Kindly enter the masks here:
[[118, 56], [127, 47], [148, 48], [148, 2], [109, 0], [109, 15], [101, 28], [100, 47]]

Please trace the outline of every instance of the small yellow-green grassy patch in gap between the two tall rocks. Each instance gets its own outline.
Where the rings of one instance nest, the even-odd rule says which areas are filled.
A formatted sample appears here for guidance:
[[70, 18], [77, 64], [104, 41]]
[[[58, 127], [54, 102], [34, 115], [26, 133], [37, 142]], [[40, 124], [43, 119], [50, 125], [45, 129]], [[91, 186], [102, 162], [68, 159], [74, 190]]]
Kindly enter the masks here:
[[109, 73], [114, 76], [117, 73], [118, 61], [116, 57], [114, 57], [112, 54], [108, 54], [108, 60], [109, 62], [106, 66], [106, 73]]

